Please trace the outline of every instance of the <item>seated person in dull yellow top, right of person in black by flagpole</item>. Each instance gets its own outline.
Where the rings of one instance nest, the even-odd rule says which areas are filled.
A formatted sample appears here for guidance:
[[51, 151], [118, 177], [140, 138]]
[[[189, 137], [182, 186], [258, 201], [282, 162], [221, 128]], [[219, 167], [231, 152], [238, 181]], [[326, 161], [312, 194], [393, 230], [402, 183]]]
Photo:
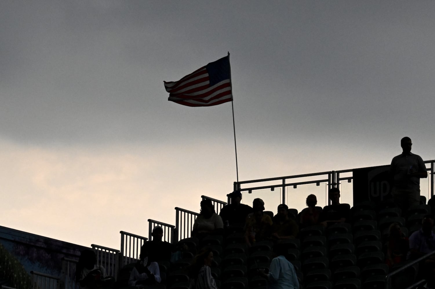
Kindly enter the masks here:
[[252, 207], [254, 212], [248, 215], [245, 226], [245, 240], [249, 247], [255, 242], [268, 240], [272, 233], [272, 219], [263, 213], [263, 200], [254, 199]]

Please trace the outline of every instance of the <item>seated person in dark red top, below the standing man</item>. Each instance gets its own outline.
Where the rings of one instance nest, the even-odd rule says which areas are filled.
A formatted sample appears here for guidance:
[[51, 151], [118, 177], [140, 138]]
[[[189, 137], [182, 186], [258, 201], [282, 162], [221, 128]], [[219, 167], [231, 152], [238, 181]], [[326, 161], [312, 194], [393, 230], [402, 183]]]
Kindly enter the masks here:
[[386, 245], [385, 263], [391, 268], [393, 265], [406, 260], [409, 250], [409, 240], [400, 229], [399, 223], [392, 223]]

